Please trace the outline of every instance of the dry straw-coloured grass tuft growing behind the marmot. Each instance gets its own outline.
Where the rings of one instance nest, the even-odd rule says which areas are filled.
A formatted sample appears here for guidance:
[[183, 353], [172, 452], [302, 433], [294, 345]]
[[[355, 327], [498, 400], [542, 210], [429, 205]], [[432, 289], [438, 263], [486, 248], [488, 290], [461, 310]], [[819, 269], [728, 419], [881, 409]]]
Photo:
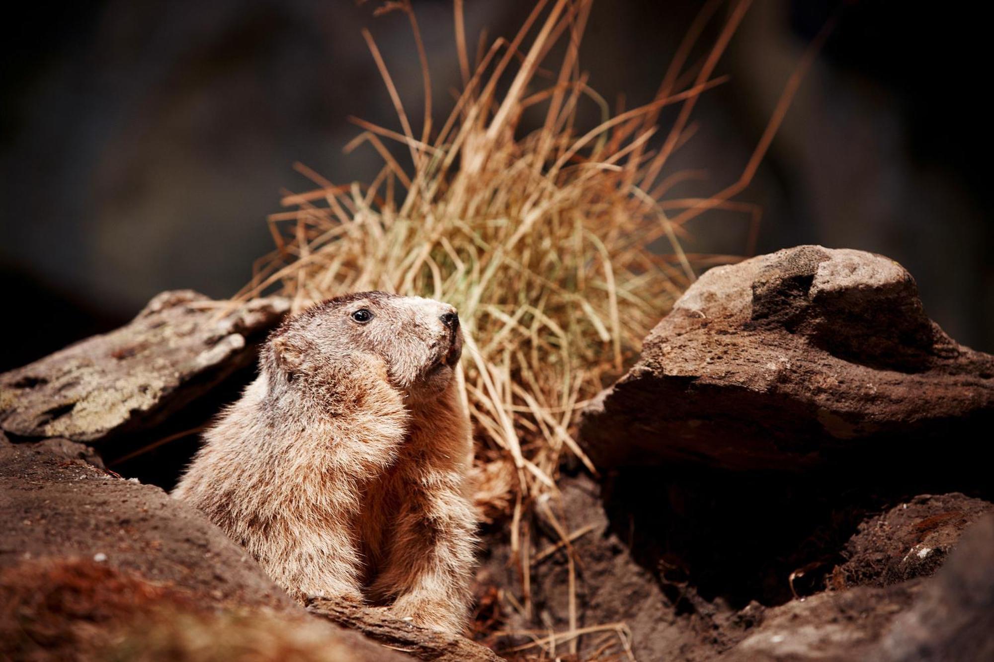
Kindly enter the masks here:
[[[476, 433], [478, 502], [488, 519], [511, 517], [523, 569], [530, 565], [525, 515], [537, 496], [555, 492], [564, 456], [595, 472], [574, 436], [578, 412], [637, 355], [641, 339], [693, 281], [695, 261], [709, 259], [685, 254], [683, 224], [714, 208], [745, 211], [757, 221], [754, 209], [731, 199], [745, 188], [786, 108], [781, 103], [775, 111], [739, 182], [712, 198], [660, 204], [681, 178], [660, 180], [660, 173], [693, 133], [689, 120], [699, 95], [723, 81], [714, 71], [749, 3], [732, 3], [707, 56], [688, 65], [722, 4], [707, 3], [655, 99], [613, 116], [578, 65], [590, 4], [539, 0], [513, 40], [481, 48], [471, 67], [462, 2], [455, 0], [464, 89], [436, 127], [414, 12], [407, 0], [386, 3], [380, 11], [405, 13], [414, 31], [424, 124], [411, 125], [364, 33], [400, 130], [353, 118], [363, 130], [346, 151], [368, 145], [383, 157], [383, 169], [369, 185], [340, 185], [298, 164], [316, 188], [286, 195], [282, 204], [290, 209], [269, 217], [276, 250], [256, 263], [240, 294], [275, 287], [293, 298], [296, 310], [368, 289], [455, 305], [467, 336], [458, 380]], [[558, 73], [548, 74], [540, 64], [557, 43], [564, 43], [565, 55]], [[788, 83], [786, 102], [792, 92]], [[581, 130], [578, 104], [591, 100], [603, 121]], [[679, 105], [677, 119], [662, 146], [650, 151], [668, 104]], [[545, 120], [519, 135], [522, 113], [533, 106], [545, 109]], [[406, 147], [408, 167], [385, 140]], [[671, 220], [666, 210], [675, 208], [682, 211]], [[647, 248], [658, 238], [668, 241], [669, 254]], [[528, 573], [522, 580], [529, 612]]]

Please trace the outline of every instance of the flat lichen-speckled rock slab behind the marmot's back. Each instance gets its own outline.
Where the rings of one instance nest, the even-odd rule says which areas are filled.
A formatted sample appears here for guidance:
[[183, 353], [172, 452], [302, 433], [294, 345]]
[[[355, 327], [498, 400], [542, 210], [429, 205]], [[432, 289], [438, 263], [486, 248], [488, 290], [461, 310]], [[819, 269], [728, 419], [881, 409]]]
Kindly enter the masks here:
[[126, 326], [0, 375], [0, 428], [85, 442], [146, 429], [247, 366], [287, 310], [163, 292]]

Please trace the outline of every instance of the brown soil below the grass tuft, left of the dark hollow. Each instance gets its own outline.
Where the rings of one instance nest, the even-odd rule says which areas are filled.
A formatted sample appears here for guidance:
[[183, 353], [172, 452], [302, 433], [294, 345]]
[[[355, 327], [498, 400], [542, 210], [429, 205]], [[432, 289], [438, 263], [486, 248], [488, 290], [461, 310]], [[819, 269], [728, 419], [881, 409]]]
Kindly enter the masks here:
[[[687, 583], [664, 584], [632, 558], [627, 544], [611, 530], [596, 482], [584, 475], [564, 476], [560, 488], [561, 500], [552, 498], [536, 509], [539, 533], [532, 541], [530, 584], [533, 618], [505, 614], [503, 629], [531, 630], [536, 637], [570, 629], [570, 566], [567, 551], [556, 547], [561, 538], [555, 533], [550, 513], [567, 532], [576, 535], [571, 546], [576, 564], [577, 624], [595, 628], [580, 638], [580, 659], [596, 650], [626, 659], [623, 636], [639, 660], [707, 660], [734, 645], [761, 614], [757, 605], [737, 613], [721, 600], [705, 600]], [[478, 583], [519, 586], [520, 578], [502, 534], [488, 537], [485, 547]], [[681, 612], [677, 602], [694, 606]], [[623, 626], [620, 632], [619, 626]], [[508, 637], [488, 643], [498, 652], [507, 652], [528, 641], [527, 637]], [[560, 654], [569, 650], [569, 641], [557, 644]], [[538, 651], [533, 647], [525, 652]]]

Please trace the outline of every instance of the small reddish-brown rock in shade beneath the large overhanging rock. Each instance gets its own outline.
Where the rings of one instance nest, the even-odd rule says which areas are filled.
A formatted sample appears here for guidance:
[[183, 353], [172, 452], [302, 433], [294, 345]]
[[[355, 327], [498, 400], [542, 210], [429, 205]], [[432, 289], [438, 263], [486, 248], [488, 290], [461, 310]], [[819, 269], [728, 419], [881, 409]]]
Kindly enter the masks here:
[[838, 589], [928, 577], [945, 562], [963, 530], [992, 510], [994, 504], [958, 493], [916, 496], [860, 525], [831, 583]]

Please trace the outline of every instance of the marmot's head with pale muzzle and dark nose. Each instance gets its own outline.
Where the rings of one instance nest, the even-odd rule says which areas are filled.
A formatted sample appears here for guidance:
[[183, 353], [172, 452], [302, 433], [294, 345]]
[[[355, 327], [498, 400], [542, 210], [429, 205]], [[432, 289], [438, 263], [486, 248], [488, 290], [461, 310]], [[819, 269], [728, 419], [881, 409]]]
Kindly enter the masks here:
[[461, 353], [455, 308], [374, 291], [329, 299], [287, 319], [270, 336], [263, 365], [270, 380], [317, 397], [379, 377], [420, 401], [448, 387]]

